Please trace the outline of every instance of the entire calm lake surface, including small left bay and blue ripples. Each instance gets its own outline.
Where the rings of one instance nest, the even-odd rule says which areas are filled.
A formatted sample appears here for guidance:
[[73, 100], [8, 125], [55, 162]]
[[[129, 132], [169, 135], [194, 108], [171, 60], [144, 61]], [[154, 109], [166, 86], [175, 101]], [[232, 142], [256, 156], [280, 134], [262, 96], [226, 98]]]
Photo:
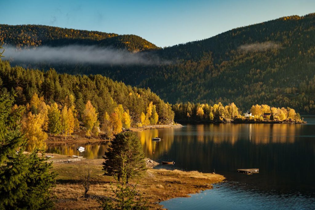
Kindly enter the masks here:
[[[304, 125], [199, 124], [137, 132], [147, 157], [175, 161], [157, 168], [216, 172], [226, 182], [190, 198], [160, 204], [168, 209], [315, 209], [315, 117]], [[161, 142], [152, 142], [152, 137]], [[79, 153], [76, 148], [87, 148]], [[47, 152], [100, 158], [107, 144], [49, 145]], [[260, 173], [236, 173], [259, 168]]]

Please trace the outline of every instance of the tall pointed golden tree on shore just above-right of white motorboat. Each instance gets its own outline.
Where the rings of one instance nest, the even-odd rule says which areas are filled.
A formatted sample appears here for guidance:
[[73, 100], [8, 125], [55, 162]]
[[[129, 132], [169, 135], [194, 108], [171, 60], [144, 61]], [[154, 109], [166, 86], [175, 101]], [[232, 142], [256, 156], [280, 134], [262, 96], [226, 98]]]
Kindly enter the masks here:
[[91, 130], [94, 127], [95, 122], [97, 121], [97, 113], [95, 111], [95, 108], [91, 104], [91, 101], [88, 101], [86, 103], [82, 119], [84, 127], [87, 129], [86, 135], [90, 136]]

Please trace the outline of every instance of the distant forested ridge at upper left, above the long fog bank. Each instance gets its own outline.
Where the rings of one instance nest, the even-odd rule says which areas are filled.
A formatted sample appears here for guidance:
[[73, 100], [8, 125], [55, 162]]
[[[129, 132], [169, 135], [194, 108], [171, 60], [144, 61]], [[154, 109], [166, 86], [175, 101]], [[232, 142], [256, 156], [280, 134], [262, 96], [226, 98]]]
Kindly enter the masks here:
[[97, 45], [142, 51], [158, 47], [136, 35], [118, 35], [99, 31], [75, 30], [41, 25], [0, 25], [0, 42], [18, 48], [41, 45], [64, 46], [69, 44]]

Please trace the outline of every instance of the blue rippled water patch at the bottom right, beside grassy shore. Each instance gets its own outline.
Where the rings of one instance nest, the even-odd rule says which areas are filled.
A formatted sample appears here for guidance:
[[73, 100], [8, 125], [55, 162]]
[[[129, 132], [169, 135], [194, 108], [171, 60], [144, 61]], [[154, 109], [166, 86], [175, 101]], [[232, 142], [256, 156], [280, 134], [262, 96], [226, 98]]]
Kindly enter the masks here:
[[[218, 188], [217, 188], [218, 187]], [[212, 190], [160, 202], [169, 210], [177, 209], [314, 209], [315, 198], [294, 194], [244, 189], [238, 183], [215, 184]]]

